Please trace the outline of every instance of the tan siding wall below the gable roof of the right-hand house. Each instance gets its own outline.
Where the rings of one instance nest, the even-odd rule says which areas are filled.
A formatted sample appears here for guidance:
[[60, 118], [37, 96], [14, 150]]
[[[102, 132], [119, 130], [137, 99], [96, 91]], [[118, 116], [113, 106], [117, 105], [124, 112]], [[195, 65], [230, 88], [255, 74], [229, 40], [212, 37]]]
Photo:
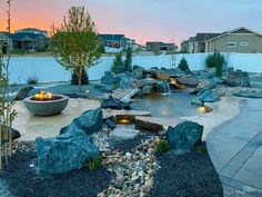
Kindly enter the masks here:
[[[228, 42], [235, 42], [235, 47], [228, 47]], [[248, 46], [241, 46], [248, 42]], [[215, 40], [208, 41], [205, 51], [213, 52], [241, 52], [241, 53], [262, 53], [262, 37], [254, 33], [231, 33]]]

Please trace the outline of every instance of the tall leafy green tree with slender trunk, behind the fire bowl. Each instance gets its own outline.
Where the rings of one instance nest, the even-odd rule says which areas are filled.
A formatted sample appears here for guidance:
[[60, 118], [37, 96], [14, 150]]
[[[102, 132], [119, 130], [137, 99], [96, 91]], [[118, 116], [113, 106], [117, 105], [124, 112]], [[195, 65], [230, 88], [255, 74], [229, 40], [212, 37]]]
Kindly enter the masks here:
[[98, 63], [101, 57], [101, 40], [95, 24], [84, 7], [72, 7], [61, 27], [54, 30], [51, 38], [53, 57], [62, 67], [78, 76], [81, 90], [84, 71]]

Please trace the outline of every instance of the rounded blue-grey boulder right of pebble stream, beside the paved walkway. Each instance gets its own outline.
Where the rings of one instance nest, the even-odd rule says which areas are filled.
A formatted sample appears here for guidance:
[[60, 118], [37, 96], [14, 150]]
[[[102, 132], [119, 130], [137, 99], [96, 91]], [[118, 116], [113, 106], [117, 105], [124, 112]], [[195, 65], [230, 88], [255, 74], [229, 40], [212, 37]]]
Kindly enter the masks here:
[[175, 127], [169, 127], [167, 139], [171, 149], [177, 152], [191, 151], [194, 145], [202, 139], [203, 126], [193, 122], [184, 121]]

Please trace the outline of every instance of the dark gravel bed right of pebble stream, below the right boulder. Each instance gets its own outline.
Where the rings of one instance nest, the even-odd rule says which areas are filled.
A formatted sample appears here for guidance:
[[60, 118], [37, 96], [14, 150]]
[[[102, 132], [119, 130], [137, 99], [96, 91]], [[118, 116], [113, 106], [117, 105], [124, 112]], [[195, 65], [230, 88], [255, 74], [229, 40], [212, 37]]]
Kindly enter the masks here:
[[208, 154], [195, 151], [158, 157], [161, 168], [148, 197], [222, 197], [219, 176]]

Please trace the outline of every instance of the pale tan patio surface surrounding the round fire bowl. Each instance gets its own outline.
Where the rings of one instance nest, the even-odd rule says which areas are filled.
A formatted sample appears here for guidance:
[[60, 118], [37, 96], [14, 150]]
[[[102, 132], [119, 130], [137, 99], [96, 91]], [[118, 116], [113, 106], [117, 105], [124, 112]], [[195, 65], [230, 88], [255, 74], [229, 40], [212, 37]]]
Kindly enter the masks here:
[[71, 124], [82, 112], [97, 109], [100, 106], [98, 100], [69, 99], [68, 107], [60, 115], [38, 117], [31, 115], [22, 101], [17, 101], [13, 109], [18, 111], [18, 116], [13, 121], [13, 128], [20, 131], [21, 137], [18, 140], [21, 141], [31, 141], [37, 137], [56, 137], [62, 127]]

